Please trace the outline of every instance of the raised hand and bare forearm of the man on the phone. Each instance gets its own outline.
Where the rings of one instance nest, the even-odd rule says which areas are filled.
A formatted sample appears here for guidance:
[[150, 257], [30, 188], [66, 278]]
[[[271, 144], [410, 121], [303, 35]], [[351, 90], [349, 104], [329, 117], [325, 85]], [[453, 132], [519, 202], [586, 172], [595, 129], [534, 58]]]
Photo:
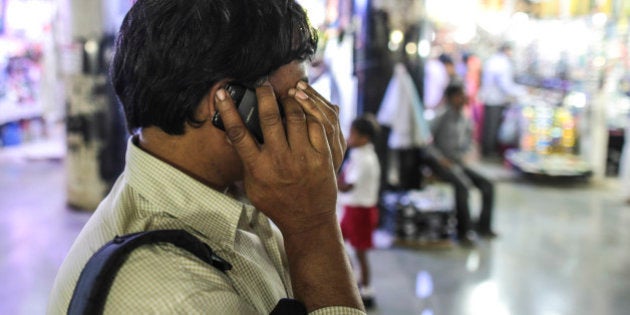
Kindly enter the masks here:
[[338, 109], [302, 83], [282, 99], [256, 90], [265, 143], [247, 131], [224, 90], [217, 92], [226, 134], [243, 161], [245, 193], [280, 229], [295, 297], [309, 312], [327, 306], [362, 309], [335, 213], [336, 171], [345, 151]]

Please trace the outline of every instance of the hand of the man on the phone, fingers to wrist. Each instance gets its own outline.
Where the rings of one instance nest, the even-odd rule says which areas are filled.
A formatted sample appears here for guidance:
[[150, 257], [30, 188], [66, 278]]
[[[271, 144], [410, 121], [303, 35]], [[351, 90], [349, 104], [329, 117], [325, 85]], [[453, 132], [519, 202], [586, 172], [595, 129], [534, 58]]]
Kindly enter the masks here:
[[282, 100], [283, 123], [273, 88], [263, 85], [256, 94], [264, 145], [247, 131], [226, 93], [217, 93], [227, 137], [243, 161], [247, 197], [285, 236], [331, 220], [337, 197], [333, 153], [338, 163], [342, 159], [337, 120], [331, 121], [331, 110], [322, 108], [327, 104], [292, 89]]

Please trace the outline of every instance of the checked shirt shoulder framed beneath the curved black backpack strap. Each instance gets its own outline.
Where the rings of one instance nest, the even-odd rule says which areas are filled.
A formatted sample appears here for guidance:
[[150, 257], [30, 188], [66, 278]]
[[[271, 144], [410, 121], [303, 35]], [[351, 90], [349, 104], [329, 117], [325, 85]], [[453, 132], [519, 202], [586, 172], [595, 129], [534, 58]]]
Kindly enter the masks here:
[[[212, 292], [230, 292], [229, 278], [220, 270], [172, 244], [150, 244], [134, 250], [121, 266], [106, 304], [108, 313], [129, 309], [158, 313], [194, 309], [208, 304]], [[201, 298], [200, 295], [208, 295]]]

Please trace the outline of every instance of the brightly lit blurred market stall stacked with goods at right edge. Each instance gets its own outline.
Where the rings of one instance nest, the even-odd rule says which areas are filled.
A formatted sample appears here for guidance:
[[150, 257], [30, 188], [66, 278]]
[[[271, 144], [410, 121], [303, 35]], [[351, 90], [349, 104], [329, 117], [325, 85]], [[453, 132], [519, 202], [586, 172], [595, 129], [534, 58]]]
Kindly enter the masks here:
[[528, 92], [511, 122], [518, 125], [517, 145], [505, 158], [537, 178], [615, 175], [611, 161], [620, 148], [611, 150], [611, 135], [629, 107], [618, 88], [630, 69], [628, 28], [602, 12], [565, 13], [524, 19], [509, 30], [518, 81]]

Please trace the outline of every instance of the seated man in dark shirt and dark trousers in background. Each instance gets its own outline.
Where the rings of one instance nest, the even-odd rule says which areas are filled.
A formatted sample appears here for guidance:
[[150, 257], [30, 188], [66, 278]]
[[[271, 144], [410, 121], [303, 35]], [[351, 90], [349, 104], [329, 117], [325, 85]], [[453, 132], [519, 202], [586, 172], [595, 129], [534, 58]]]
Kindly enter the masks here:
[[437, 176], [454, 186], [457, 237], [463, 246], [471, 246], [474, 241], [470, 233], [468, 191], [473, 185], [481, 190], [481, 215], [475, 228], [481, 237], [492, 238], [496, 237], [491, 227], [494, 185], [464, 161], [464, 156], [472, 148], [473, 137], [472, 122], [463, 112], [467, 103], [463, 86], [449, 84], [444, 98], [445, 108], [431, 125], [433, 145], [424, 150], [423, 160]]

